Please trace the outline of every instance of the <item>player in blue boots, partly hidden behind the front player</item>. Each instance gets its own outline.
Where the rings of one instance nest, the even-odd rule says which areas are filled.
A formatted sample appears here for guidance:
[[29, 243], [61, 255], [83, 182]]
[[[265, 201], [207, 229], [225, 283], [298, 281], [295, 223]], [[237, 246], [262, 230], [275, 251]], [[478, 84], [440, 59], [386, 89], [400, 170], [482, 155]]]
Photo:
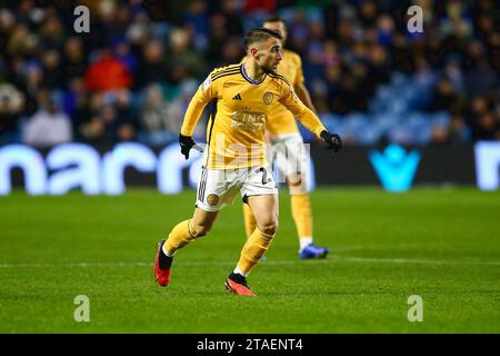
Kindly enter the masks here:
[[[282, 19], [277, 17], [268, 19], [263, 22], [263, 28], [278, 31], [283, 37], [284, 44], [287, 27]], [[316, 112], [309, 91], [304, 86], [302, 61], [299, 55], [284, 49], [282, 57], [278, 66], [278, 75], [283, 76], [293, 86], [300, 100]], [[276, 162], [279, 175], [286, 178], [289, 187], [291, 214], [299, 235], [299, 257], [301, 259], [324, 258], [329, 249], [316, 246], [312, 239], [312, 211], [306, 174], [309, 168], [308, 150], [303, 147], [302, 136], [293, 113], [280, 102], [273, 103], [271, 108], [267, 132], [270, 134], [270, 150], [277, 154]], [[283, 157], [284, 159], [282, 159]], [[247, 237], [249, 237], [256, 229], [257, 222], [252, 210], [246, 204], [243, 204], [243, 216]]]

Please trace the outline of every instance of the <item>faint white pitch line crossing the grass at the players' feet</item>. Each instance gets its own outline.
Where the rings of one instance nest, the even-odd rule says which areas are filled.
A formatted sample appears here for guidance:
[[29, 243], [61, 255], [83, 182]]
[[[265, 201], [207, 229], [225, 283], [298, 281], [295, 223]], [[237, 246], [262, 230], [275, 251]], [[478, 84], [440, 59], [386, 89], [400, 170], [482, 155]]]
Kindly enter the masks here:
[[[371, 258], [371, 257], [347, 257], [340, 255], [330, 255], [327, 259], [308, 260], [304, 263], [332, 263], [349, 261], [361, 264], [418, 264], [418, 265], [491, 265], [500, 266], [497, 260], [472, 260], [472, 259], [418, 259], [418, 258]], [[191, 260], [182, 261], [181, 266], [227, 266], [233, 264], [233, 260]], [[301, 261], [296, 259], [268, 259], [263, 265], [297, 265]], [[60, 267], [152, 267], [152, 263], [61, 263], [61, 264], [0, 264], [0, 268], [60, 268]]]

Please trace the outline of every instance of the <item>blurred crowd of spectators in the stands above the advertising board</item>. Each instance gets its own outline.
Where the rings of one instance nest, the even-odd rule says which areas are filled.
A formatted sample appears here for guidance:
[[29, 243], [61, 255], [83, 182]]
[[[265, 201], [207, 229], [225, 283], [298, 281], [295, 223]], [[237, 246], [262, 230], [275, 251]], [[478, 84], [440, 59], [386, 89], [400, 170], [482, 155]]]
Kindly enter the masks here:
[[[78, 4], [89, 33], [73, 29]], [[408, 31], [411, 4], [423, 32]], [[348, 144], [500, 140], [494, 0], [21, 0], [0, 8], [0, 144], [176, 140], [198, 85], [239, 62], [244, 32], [274, 14]]]

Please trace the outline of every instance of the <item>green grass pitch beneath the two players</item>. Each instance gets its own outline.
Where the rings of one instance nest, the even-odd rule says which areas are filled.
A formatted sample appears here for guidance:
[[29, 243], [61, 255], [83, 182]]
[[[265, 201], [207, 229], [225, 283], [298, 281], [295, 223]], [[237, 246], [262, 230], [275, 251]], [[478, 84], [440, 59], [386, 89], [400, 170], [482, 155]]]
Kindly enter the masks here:
[[[163, 196], [0, 198], [1, 333], [499, 333], [500, 192], [472, 188], [318, 189], [324, 260], [298, 259], [286, 190], [280, 228], [249, 276], [259, 295], [224, 290], [244, 243], [241, 206], [180, 250], [156, 284], [156, 245], [193, 210], [194, 191]], [[73, 299], [90, 300], [90, 322]], [[408, 298], [423, 300], [410, 323]]]

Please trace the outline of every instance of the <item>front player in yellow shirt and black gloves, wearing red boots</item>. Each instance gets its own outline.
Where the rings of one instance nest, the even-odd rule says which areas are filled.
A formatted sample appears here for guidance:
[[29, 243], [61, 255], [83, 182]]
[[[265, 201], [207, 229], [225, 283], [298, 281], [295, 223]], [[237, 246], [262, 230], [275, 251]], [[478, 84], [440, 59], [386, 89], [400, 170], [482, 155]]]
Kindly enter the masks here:
[[297, 97], [291, 85], [276, 73], [282, 59], [282, 37], [269, 29], [254, 29], [246, 36], [248, 59], [243, 63], [213, 70], [198, 88], [186, 111], [179, 144], [189, 158], [197, 148], [191, 136], [208, 102], [216, 100], [217, 112], [207, 127], [197, 204], [191, 219], [179, 222], [167, 240], [158, 244], [154, 275], [160, 286], [170, 281], [178, 249], [207, 235], [219, 210], [240, 191], [256, 218], [256, 229], [247, 239], [234, 270], [226, 280], [229, 291], [256, 296], [247, 276], [268, 249], [278, 228], [278, 190], [266, 158], [264, 130], [269, 110], [277, 101], [320, 137], [329, 148], [341, 148], [341, 139], [326, 130], [318, 117]]

